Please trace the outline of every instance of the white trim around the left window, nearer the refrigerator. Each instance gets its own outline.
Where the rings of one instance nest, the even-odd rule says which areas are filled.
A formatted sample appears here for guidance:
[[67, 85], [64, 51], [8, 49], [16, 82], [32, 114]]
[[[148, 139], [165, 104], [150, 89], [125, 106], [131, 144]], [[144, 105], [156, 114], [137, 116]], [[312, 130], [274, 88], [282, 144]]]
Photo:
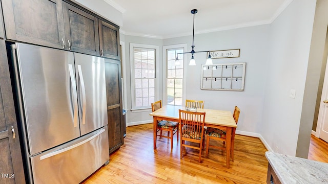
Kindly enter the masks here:
[[145, 108], [137, 108], [135, 107], [135, 87], [134, 87], [134, 50], [133, 48], [145, 48], [145, 49], [155, 49], [155, 99], [158, 99], [158, 94], [159, 94], [159, 46], [158, 45], [149, 45], [149, 44], [139, 44], [139, 43], [130, 43], [130, 76], [131, 76], [131, 111], [132, 112], [143, 112], [143, 111], [148, 111], [151, 109], [151, 106]]

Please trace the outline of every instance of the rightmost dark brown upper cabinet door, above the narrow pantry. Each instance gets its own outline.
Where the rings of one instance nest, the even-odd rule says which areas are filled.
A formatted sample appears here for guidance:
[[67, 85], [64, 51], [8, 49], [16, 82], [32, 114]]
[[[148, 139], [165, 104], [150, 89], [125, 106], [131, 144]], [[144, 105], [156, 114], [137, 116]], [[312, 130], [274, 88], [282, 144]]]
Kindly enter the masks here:
[[120, 59], [119, 29], [99, 19], [100, 56]]

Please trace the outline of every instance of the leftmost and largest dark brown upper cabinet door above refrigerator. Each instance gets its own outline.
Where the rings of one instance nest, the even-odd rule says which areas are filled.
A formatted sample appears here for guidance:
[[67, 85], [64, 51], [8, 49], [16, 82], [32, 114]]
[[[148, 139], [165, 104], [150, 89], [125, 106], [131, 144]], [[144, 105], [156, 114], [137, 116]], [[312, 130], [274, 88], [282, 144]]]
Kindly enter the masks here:
[[6, 0], [2, 5], [7, 39], [63, 49], [61, 0]]

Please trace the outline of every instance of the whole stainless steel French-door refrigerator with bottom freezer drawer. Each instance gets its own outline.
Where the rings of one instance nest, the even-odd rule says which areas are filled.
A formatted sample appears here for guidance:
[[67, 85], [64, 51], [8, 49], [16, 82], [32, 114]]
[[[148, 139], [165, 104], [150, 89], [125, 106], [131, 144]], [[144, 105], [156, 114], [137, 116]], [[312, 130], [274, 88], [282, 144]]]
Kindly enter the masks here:
[[104, 58], [11, 45], [31, 183], [79, 183], [108, 163]]

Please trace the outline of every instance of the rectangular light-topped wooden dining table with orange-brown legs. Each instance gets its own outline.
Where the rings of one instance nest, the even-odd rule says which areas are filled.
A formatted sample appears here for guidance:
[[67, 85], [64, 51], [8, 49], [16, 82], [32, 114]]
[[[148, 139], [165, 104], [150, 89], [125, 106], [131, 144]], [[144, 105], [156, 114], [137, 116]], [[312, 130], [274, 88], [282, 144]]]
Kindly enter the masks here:
[[[150, 113], [154, 120], [154, 149], [156, 149], [156, 126], [158, 121], [167, 120], [173, 122], [179, 122], [179, 109], [186, 110], [185, 106], [177, 105], [166, 105], [162, 108]], [[206, 112], [205, 115], [205, 126], [218, 128], [220, 130], [226, 131], [227, 141], [227, 168], [230, 167], [230, 154], [231, 148], [234, 146], [234, 141], [232, 140], [232, 132], [237, 127], [237, 124], [232, 116], [231, 111], [227, 110], [214, 110], [214, 109], [201, 109], [198, 108], [197, 112]]]

